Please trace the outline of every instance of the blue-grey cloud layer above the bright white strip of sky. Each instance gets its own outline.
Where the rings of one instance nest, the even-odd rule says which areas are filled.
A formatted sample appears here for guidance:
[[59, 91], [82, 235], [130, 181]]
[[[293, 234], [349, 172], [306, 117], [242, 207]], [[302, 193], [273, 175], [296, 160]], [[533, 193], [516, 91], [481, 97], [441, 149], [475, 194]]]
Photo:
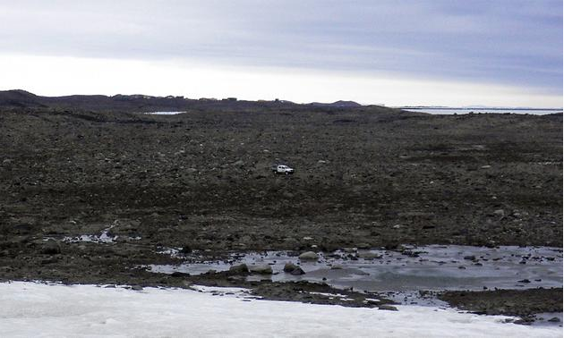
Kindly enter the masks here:
[[184, 60], [562, 92], [561, 1], [22, 0], [0, 4], [0, 21], [4, 54]]

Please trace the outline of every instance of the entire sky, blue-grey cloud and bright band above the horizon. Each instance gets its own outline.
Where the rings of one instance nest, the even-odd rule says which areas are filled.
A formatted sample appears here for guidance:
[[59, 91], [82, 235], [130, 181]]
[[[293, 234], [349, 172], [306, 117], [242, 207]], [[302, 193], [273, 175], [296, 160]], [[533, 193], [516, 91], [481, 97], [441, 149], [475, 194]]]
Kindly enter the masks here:
[[562, 106], [562, 1], [0, 0], [0, 89]]

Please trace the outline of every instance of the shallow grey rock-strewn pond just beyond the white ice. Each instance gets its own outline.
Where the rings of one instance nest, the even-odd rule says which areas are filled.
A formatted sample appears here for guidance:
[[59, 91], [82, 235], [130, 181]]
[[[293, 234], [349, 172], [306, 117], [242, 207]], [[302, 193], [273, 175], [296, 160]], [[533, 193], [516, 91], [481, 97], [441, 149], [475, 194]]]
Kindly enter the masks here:
[[[269, 265], [273, 275], [250, 275], [249, 280], [323, 282], [338, 288], [366, 292], [416, 292], [419, 290], [484, 290], [562, 287], [562, 249], [547, 247], [470, 246], [409, 247], [402, 252], [383, 249], [347, 249], [320, 253], [317, 261], [300, 261], [284, 251], [234, 254], [226, 261], [148, 266], [152, 272], [191, 275], [210, 269], [228, 270], [245, 263]], [[168, 253], [173, 253], [173, 251]], [[283, 272], [286, 262], [302, 267], [305, 275]]]

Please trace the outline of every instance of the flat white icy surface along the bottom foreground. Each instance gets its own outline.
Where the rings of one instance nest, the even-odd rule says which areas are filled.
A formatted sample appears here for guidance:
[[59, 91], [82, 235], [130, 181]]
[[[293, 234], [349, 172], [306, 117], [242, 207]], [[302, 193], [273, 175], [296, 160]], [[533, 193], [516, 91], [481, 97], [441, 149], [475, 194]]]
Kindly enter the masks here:
[[[215, 294], [215, 295], [214, 295]], [[249, 300], [244, 289], [198, 291], [0, 283], [2, 337], [559, 337], [560, 327], [503, 323], [454, 309], [398, 311]]]

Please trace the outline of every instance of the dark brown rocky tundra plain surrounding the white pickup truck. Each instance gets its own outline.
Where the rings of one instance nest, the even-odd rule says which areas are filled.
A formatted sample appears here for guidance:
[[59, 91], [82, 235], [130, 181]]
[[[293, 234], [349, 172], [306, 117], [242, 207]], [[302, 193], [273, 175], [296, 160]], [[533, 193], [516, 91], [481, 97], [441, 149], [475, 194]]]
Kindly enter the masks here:
[[162, 247], [562, 247], [561, 114], [187, 110], [0, 108], [0, 279], [190, 282], [136, 268]]

